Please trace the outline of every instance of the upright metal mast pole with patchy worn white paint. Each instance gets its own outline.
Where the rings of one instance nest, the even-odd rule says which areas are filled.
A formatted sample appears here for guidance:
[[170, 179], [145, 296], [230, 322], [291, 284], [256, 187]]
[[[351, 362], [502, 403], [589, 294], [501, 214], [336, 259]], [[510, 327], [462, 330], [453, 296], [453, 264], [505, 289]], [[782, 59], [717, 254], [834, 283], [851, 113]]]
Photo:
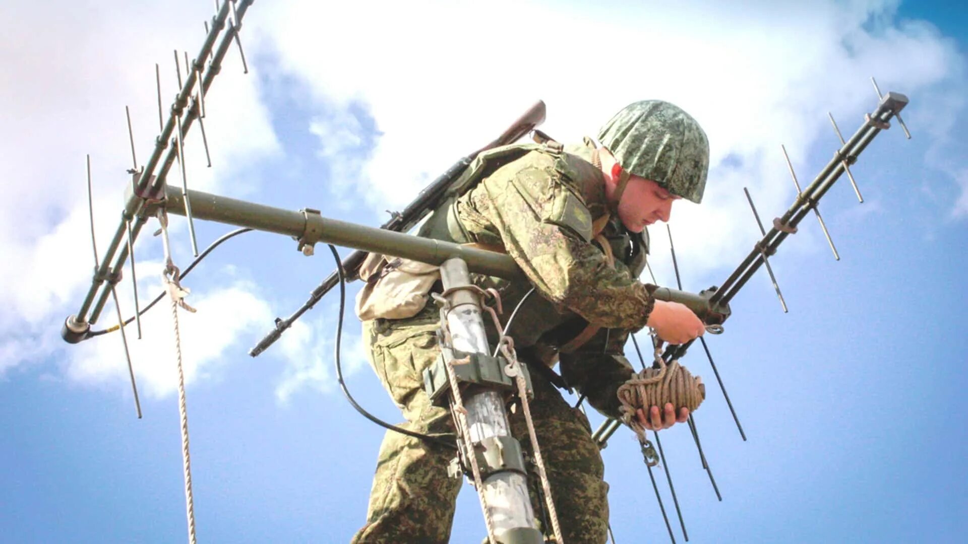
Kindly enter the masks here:
[[[440, 265], [443, 288], [449, 305], [447, 326], [452, 348], [465, 353], [490, 354], [480, 302], [475, 293], [455, 287], [468, 287], [468, 264], [461, 258], [450, 258]], [[510, 437], [511, 430], [504, 411], [504, 399], [498, 391], [474, 388], [464, 401], [468, 410], [470, 440], [474, 444], [487, 438]], [[520, 453], [518, 454], [520, 457]], [[519, 459], [520, 466], [524, 460]], [[483, 481], [485, 504], [499, 542], [544, 542], [536, 528], [528, 495], [528, 480], [517, 472], [501, 471]], [[510, 532], [509, 532], [510, 531]]]

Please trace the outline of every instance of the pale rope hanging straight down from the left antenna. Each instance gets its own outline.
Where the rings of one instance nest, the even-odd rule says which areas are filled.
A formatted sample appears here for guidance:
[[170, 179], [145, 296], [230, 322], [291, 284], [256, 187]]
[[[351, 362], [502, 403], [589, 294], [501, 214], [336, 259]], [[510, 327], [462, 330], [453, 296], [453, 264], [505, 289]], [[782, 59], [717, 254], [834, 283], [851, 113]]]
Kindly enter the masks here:
[[162, 224], [162, 241], [165, 246], [166, 264], [165, 271], [162, 273], [162, 279], [165, 281], [168, 297], [171, 299], [171, 318], [174, 325], [175, 338], [175, 359], [178, 363], [178, 415], [181, 420], [182, 466], [185, 476], [185, 513], [188, 518], [188, 541], [189, 544], [196, 544], [195, 498], [192, 494], [192, 455], [189, 452], [188, 408], [185, 402], [185, 372], [182, 368], [181, 334], [178, 330], [178, 307], [181, 306], [185, 310], [192, 313], [195, 313], [195, 308], [192, 308], [185, 302], [185, 296], [187, 296], [190, 291], [186, 287], [181, 287], [181, 285], [178, 283], [178, 267], [175, 266], [171, 261], [171, 252], [168, 247], [168, 222], [164, 210], [159, 211], [158, 219]]

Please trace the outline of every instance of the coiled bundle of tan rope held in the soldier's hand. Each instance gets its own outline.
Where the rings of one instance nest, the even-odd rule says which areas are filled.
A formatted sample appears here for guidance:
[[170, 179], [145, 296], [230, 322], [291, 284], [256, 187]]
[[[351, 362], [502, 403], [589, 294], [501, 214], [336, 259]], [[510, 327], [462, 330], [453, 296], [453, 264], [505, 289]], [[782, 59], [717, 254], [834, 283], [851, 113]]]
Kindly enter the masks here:
[[640, 442], [648, 441], [646, 429], [636, 417], [640, 408], [648, 412], [651, 407], [662, 408], [672, 403], [677, 412], [680, 408], [692, 412], [706, 399], [703, 379], [692, 376], [678, 359], [666, 365], [661, 350], [656, 349], [655, 362], [659, 368], [643, 370], [620, 385], [617, 391], [621, 421], [635, 431]]

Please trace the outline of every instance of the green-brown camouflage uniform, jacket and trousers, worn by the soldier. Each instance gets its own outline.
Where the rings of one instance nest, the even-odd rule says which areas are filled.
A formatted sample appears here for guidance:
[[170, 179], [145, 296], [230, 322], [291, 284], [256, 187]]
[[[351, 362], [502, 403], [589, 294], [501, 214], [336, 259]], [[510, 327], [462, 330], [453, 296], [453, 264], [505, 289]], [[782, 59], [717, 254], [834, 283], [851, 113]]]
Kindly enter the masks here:
[[[603, 135], [608, 136], [604, 130]], [[591, 406], [618, 417], [616, 389], [633, 374], [621, 355], [622, 346], [628, 331], [645, 326], [653, 304], [652, 287], [637, 279], [644, 267], [645, 241], [632, 239], [612, 218], [596, 239], [598, 245], [592, 243], [597, 234], [592, 226], [606, 218], [609, 206], [602, 173], [590, 164], [590, 141], [567, 150], [526, 147], [524, 153], [509, 154], [505, 162], [488, 163], [493, 167], [483, 180], [441, 206], [420, 235], [499, 246], [513, 257], [529, 282], [479, 275], [473, 282], [497, 288], [505, 308], [514, 308], [532, 285], [536, 288], [540, 296], [529, 297], [507, 331], [515, 339], [519, 358], [536, 368], [558, 355], [562, 377], [587, 395]], [[499, 157], [505, 151], [499, 148], [494, 153]], [[479, 157], [477, 166], [487, 159]], [[659, 161], [659, 166], [668, 164]], [[616, 256], [614, 266], [608, 263], [603, 244]], [[590, 322], [602, 327], [590, 342], [573, 352], [559, 352]], [[363, 338], [371, 347], [370, 361], [378, 378], [407, 418], [403, 427], [453, 440], [450, 413], [431, 405], [421, 376], [439, 355], [438, 327], [439, 313], [429, 304], [415, 317], [365, 321]], [[491, 329], [494, 346], [498, 337]], [[531, 413], [562, 536], [570, 543], [605, 542], [608, 484], [602, 479], [604, 467], [588, 419], [547, 379], [533, 371], [531, 376]], [[520, 410], [509, 419], [512, 433], [527, 449]], [[461, 480], [445, 476], [454, 455], [451, 449], [387, 432], [367, 525], [353, 542], [446, 542], [461, 487]], [[539, 485], [536, 477], [529, 482]], [[534, 493], [531, 502], [536, 513], [543, 512]]]

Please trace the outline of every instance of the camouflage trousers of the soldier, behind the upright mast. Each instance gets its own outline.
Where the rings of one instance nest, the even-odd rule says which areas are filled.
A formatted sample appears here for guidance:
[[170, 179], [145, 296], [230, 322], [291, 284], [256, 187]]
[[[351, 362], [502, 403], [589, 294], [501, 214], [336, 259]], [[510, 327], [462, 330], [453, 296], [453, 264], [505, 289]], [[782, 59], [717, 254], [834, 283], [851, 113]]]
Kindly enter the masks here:
[[[437, 316], [421, 317], [423, 314], [399, 321], [366, 321], [363, 339], [369, 342], [370, 362], [380, 381], [407, 418], [402, 427], [452, 441], [450, 413], [430, 404], [421, 375], [439, 354]], [[531, 416], [562, 537], [569, 543], [603, 543], [608, 529], [608, 484], [602, 479], [604, 467], [591, 439], [588, 418], [571, 408], [545, 378], [532, 373], [532, 381]], [[509, 418], [512, 433], [529, 449], [521, 410]], [[462, 485], [462, 480], [447, 477], [454, 456], [450, 448], [388, 431], [379, 450], [367, 524], [352, 542], [447, 542]], [[544, 505], [536, 497], [540, 488], [536, 475], [529, 476], [529, 487], [535, 517], [541, 519]], [[550, 532], [550, 525], [547, 530]]]

